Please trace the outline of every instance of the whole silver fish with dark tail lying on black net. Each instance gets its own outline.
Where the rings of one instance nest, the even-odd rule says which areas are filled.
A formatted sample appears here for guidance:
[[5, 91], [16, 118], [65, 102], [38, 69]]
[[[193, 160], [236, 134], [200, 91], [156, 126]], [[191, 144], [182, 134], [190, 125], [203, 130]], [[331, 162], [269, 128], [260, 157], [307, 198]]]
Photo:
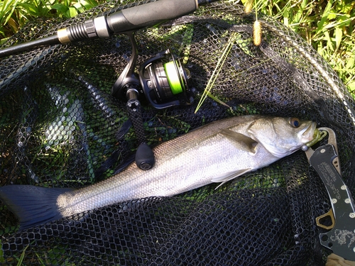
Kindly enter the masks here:
[[226, 118], [158, 145], [151, 170], [132, 163], [82, 189], [11, 185], [0, 188], [0, 199], [16, 214], [21, 228], [29, 228], [117, 202], [227, 182], [294, 153], [313, 140], [316, 130], [315, 122], [297, 118]]

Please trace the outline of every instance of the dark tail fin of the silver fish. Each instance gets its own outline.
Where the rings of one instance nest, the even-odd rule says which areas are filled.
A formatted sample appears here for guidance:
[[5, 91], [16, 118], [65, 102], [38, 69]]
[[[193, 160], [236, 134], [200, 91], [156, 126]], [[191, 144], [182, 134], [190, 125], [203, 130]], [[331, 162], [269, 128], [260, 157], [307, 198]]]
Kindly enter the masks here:
[[10, 185], [0, 187], [0, 200], [20, 221], [20, 230], [62, 218], [57, 206], [60, 194], [72, 189]]

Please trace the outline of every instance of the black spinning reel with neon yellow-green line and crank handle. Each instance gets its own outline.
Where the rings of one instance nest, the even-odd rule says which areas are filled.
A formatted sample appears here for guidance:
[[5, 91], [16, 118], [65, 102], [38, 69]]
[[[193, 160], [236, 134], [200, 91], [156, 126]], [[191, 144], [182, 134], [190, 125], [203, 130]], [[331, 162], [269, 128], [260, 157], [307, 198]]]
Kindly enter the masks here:
[[134, 72], [138, 55], [136, 39], [133, 32], [126, 35], [131, 40], [131, 59], [114, 83], [111, 94], [122, 101], [127, 101], [129, 118], [140, 143], [136, 152], [136, 165], [141, 170], [149, 170], [153, 167], [155, 158], [153, 151], [146, 144], [139, 99], [147, 99], [156, 109], [192, 104], [193, 98], [187, 87], [190, 72], [183, 67], [180, 60], [175, 60], [170, 51], [166, 50], [144, 62], [136, 74]]

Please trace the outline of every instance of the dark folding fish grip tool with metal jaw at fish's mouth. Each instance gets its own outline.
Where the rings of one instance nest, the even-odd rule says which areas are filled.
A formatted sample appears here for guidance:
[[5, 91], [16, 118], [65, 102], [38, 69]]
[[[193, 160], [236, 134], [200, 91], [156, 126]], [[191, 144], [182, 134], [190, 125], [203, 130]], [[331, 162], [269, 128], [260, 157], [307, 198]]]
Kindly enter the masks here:
[[[355, 207], [349, 188], [342, 179], [338, 157], [337, 138], [331, 128], [319, 128], [327, 131], [328, 143], [305, 153], [310, 165], [320, 175], [329, 195], [332, 209], [316, 218], [317, 226], [324, 228], [320, 233], [320, 243], [333, 253], [355, 260]], [[331, 224], [324, 223], [330, 218]]]

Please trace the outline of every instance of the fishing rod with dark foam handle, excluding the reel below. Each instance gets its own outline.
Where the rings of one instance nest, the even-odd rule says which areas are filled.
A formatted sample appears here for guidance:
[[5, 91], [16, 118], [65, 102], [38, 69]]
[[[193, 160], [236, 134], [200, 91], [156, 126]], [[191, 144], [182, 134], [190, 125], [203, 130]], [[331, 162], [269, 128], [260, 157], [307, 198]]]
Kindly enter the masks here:
[[199, 6], [214, 1], [219, 0], [159, 0], [134, 6], [112, 13], [109, 16], [99, 16], [84, 21], [84, 23], [61, 28], [55, 35], [1, 49], [0, 57], [6, 57], [43, 45], [74, 43], [89, 38], [109, 38], [113, 34], [157, 26], [165, 21], [192, 13]]

